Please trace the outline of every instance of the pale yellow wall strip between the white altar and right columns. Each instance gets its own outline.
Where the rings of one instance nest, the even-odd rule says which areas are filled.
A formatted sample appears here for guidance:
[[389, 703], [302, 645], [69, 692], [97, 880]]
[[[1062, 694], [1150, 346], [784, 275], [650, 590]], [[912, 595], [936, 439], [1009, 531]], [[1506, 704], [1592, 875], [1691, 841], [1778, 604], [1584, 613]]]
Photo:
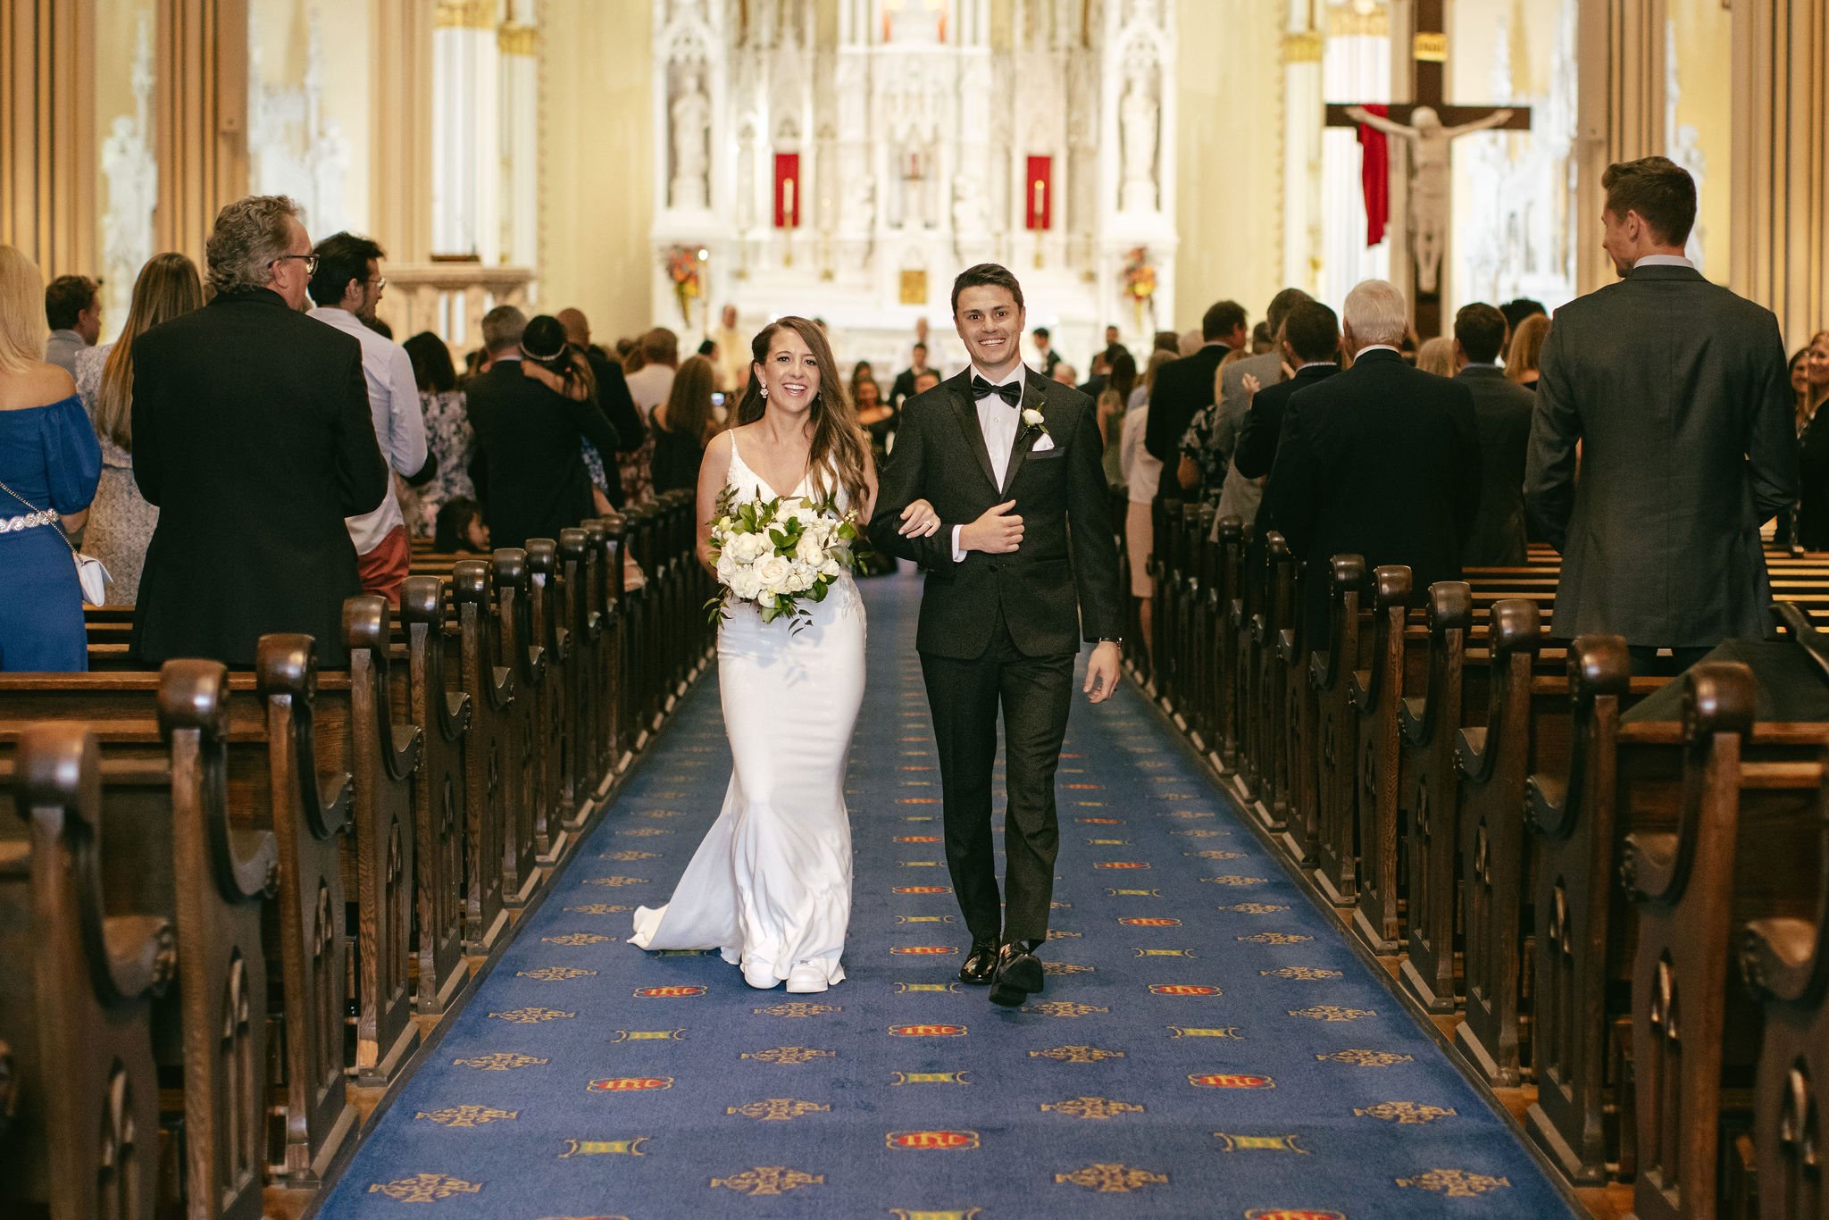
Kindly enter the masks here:
[[1200, 326], [1222, 298], [1257, 322], [1282, 287], [1280, 9], [1271, 0], [1178, 0], [1178, 331]]

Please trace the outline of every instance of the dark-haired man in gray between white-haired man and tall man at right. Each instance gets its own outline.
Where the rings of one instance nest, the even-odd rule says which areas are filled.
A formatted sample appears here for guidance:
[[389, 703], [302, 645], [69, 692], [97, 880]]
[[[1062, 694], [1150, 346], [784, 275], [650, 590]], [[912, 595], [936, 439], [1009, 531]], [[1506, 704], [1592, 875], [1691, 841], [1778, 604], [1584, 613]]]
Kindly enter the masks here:
[[1505, 315], [1492, 305], [1465, 305], [1454, 315], [1454, 366], [1474, 395], [1480, 433], [1480, 510], [1461, 547], [1461, 567], [1524, 563], [1524, 455], [1531, 446], [1536, 395], [1505, 377]]

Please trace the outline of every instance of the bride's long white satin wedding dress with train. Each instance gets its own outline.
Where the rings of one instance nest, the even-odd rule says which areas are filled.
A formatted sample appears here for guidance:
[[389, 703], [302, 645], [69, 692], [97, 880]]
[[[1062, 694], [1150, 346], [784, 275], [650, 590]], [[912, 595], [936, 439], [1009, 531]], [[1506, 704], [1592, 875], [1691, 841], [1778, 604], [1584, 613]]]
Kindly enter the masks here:
[[[735, 435], [728, 481], [739, 498], [775, 494], [743, 461]], [[843, 488], [838, 503], [845, 507]], [[790, 991], [821, 991], [845, 979], [845, 757], [863, 702], [865, 624], [849, 573], [823, 602], [805, 605], [812, 622], [794, 631], [786, 618], [765, 624], [754, 602], [730, 602], [717, 633], [730, 788], [673, 900], [635, 911], [629, 944], [719, 949], [750, 986], [786, 979]]]

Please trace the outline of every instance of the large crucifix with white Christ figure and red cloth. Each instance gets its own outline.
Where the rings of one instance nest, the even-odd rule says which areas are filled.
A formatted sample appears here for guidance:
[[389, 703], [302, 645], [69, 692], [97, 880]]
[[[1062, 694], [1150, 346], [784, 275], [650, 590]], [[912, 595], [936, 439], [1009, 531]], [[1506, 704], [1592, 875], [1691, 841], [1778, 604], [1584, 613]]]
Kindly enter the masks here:
[[[1416, 305], [1416, 333], [1430, 338], [1441, 333], [1441, 262], [1449, 245], [1449, 205], [1452, 181], [1449, 177], [1449, 143], [1471, 132], [1502, 128], [1531, 130], [1529, 106], [1450, 106], [1443, 88], [1443, 66], [1449, 59], [1449, 35], [1443, 24], [1443, 0], [1416, 0], [1410, 38], [1410, 97], [1414, 102], [1392, 106], [1328, 106], [1328, 126], [1355, 128], [1366, 146], [1368, 166], [1381, 157], [1383, 139], [1403, 139], [1410, 152], [1410, 192], [1405, 216], [1410, 238], [1410, 276], [1399, 276]], [[1377, 227], [1374, 190], [1381, 183], [1366, 181], [1366, 212]], [[1372, 234], [1368, 234], [1372, 236]], [[1372, 245], [1377, 241], [1374, 240]], [[1410, 284], [1405, 285], [1403, 278]]]

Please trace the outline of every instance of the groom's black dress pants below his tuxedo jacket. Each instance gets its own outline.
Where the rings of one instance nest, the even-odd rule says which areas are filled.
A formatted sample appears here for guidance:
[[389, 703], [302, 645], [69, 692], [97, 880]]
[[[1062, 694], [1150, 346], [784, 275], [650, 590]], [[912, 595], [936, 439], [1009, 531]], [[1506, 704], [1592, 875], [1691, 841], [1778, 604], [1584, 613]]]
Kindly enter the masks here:
[[[1074, 653], [1026, 657], [1004, 627], [977, 660], [922, 653], [946, 801], [946, 867], [973, 940], [1048, 938], [1055, 823], [1054, 772], [1061, 765], [1066, 712], [1074, 699]], [[999, 916], [991, 840], [991, 768], [997, 710], [1004, 713], [1004, 909]]]

